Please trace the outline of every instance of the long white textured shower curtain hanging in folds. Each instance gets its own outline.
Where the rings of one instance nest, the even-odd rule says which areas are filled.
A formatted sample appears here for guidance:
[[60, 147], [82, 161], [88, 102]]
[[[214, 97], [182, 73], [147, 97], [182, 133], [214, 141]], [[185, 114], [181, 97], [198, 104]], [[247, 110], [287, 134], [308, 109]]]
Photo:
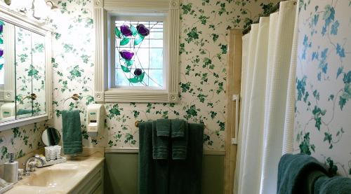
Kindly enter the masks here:
[[234, 193], [277, 193], [279, 159], [292, 151], [296, 12], [295, 1], [282, 1], [243, 36]]

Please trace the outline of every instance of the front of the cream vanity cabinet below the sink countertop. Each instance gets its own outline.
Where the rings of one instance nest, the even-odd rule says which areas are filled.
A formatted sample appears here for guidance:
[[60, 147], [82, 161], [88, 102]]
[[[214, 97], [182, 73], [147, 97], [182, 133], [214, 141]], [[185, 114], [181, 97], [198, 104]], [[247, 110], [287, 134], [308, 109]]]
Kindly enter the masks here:
[[89, 172], [86, 177], [81, 180], [79, 185], [74, 188], [70, 194], [80, 193], [91, 193], [91, 194], [102, 194], [103, 193], [103, 177], [104, 177], [104, 162], [102, 161], [95, 169]]

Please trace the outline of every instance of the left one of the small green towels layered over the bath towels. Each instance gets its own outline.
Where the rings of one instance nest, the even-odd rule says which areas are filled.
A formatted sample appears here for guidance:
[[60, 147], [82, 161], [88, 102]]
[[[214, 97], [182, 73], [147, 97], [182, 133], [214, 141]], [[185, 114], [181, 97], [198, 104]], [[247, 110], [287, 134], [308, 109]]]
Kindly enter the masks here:
[[152, 121], [152, 158], [154, 160], [161, 160], [168, 158], [169, 139], [166, 136], [158, 135], [157, 121]]

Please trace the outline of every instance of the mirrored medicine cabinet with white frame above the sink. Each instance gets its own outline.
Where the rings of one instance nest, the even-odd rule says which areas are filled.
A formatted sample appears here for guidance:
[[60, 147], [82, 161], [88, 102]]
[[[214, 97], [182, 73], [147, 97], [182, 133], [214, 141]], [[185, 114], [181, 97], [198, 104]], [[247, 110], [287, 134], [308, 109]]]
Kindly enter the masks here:
[[51, 118], [51, 31], [0, 6], [0, 131]]

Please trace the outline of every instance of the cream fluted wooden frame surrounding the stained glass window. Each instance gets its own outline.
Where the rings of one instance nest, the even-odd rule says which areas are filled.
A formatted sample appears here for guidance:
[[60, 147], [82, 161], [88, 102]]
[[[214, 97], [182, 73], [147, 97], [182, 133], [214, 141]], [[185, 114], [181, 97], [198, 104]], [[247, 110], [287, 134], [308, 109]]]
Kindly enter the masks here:
[[[112, 88], [110, 83], [114, 49], [113, 15], [150, 15], [164, 20], [164, 90], [145, 87]], [[179, 88], [179, 0], [94, 0], [95, 102], [178, 102]], [[151, 20], [150, 20], [151, 21]], [[165, 68], [166, 67], [166, 68]]]

